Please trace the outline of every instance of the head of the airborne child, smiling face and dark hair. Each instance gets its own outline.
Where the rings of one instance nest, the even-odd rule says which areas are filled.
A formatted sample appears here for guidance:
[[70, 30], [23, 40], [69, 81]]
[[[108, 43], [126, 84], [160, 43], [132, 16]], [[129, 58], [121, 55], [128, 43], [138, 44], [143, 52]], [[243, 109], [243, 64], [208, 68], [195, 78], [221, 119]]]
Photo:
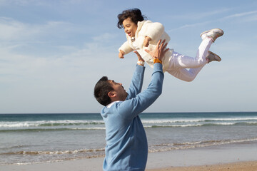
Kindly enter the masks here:
[[143, 21], [146, 17], [141, 14], [140, 9], [128, 9], [118, 15], [118, 28], [124, 28], [125, 33], [134, 37], [138, 21]]

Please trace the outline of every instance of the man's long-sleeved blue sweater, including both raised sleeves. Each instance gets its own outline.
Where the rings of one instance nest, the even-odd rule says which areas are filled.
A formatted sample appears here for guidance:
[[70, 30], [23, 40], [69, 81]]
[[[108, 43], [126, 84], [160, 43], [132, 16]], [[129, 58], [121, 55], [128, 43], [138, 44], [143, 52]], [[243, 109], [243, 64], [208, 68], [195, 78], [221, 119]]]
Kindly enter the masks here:
[[101, 116], [106, 126], [106, 157], [104, 170], [145, 170], [148, 144], [143, 124], [138, 116], [161, 95], [163, 71], [155, 63], [151, 83], [142, 93], [144, 67], [136, 65], [128, 96], [111, 107], [104, 107]]

